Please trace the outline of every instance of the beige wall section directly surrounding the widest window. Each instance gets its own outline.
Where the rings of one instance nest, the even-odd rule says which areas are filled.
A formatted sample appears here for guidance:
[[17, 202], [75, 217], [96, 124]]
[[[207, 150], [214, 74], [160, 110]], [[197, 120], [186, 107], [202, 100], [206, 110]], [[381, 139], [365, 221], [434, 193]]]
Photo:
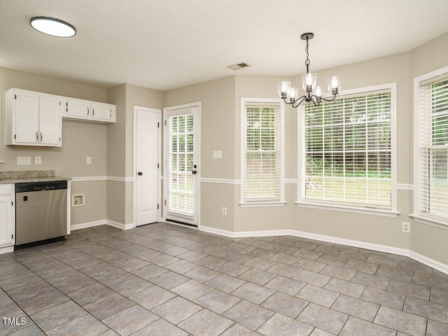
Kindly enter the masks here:
[[[409, 162], [409, 151], [412, 150], [408, 141], [409, 54], [392, 55], [318, 71], [318, 83], [325, 84], [326, 79], [330, 76], [342, 77], [342, 90], [397, 83], [397, 179], [398, 183], [409, 183], [407, 162]], [[295, 127], [297, 129], [297, 126]], [[293, 148], [293, 151], [297, 153], [297, 146]], [[295, 207], [291, 228], [318, 235], [409, 248], [409, 234], [401, 232], [401, 222], [409, 221], [407, 216], [409, 214], [408, 197], [407, 191], [398, 191], [398, 212], [400, 214], [396, 217]]]

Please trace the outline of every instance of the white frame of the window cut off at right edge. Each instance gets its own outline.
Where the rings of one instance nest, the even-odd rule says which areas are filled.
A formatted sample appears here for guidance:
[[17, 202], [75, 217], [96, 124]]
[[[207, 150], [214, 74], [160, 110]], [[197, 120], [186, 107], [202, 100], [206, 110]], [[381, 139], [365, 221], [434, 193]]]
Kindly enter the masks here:
[[437, 80], [448, 78], [448, 66], [444, 66], [443, 68], [437, 69], [435, 71], [431, 71], [429, 73], [425, 73], [421, 76], [414, 78], [414, 176], [413, 176], [413, 184], [414, 184], [414, 195], [413, 195], [413, 214], [409, 215], [414, 218], [415, 221], [420, 223], [426, 223], [429, 225], [435, 225], [440, 228], [448, 228], [448, 218], [445, 221], [442, 218], [433, 218], [430, 216], [425, 216], [420, 213], [420, 204], [421, 204], [421, 190], [420, 190], [420, 175], [421, 175], [421, 167], [419, 165], [420, 162], [420, 135], [421, 135], [421, 127], [419, 125], [419, 104], [420, 104], [420, 84], [423, 82], [437, 82]]

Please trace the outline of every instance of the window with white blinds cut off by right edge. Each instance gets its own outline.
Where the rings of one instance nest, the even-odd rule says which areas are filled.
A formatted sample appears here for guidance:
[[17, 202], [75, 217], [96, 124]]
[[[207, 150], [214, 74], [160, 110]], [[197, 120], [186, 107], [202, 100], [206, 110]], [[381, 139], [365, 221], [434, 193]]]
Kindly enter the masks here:
[[414, 80], [417, 216], [448, 221], [448, 69]]

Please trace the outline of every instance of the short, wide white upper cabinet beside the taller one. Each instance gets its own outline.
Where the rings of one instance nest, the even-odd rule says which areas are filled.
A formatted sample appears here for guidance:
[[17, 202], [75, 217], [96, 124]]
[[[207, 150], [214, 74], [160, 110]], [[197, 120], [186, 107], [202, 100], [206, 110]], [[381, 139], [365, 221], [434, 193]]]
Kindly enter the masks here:
[[94, 121], [97, 123], [115, 123], [116, 106], [82, 99], [66, 99], [63, 118]]

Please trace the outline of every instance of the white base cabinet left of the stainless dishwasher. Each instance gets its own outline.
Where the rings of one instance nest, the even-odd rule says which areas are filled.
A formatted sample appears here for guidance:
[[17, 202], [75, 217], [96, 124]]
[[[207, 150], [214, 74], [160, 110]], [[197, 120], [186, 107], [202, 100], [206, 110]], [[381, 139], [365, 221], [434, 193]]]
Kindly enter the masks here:
[[6, 247], [13, 246], [15, 241], [13, 190], [13, 184], [0, 185], [0, 253], [13, 251], [13, 248], [4, 251]]

